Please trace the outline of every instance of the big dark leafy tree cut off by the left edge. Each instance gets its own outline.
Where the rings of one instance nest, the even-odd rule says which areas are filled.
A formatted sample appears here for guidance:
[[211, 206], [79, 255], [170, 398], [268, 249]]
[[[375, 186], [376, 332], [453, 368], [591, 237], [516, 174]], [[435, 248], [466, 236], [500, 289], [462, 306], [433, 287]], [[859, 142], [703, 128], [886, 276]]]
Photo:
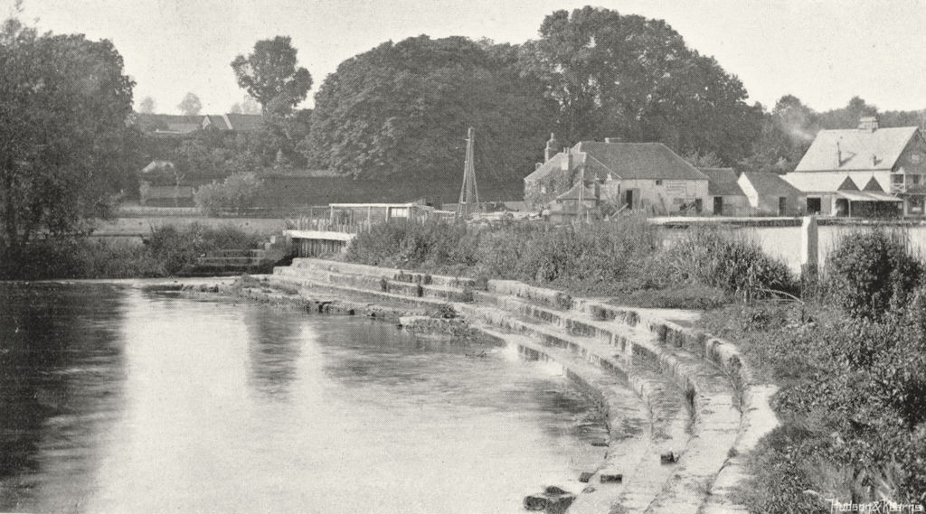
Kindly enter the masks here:
[[[0, 253], [106, 214], [131, 144], [132, 81], [112, 43], [0, 30]], [[2, 257], [0, 257], [2, 258]]]

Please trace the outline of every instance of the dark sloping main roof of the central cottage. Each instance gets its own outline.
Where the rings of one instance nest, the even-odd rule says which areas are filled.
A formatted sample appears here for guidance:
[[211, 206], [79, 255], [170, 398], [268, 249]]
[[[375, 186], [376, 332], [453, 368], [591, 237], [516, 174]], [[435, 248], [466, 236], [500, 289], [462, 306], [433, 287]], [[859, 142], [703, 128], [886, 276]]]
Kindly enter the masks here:
[[661, 142], [582, 141], [572, 149], [586, 154], [586, 177], [707, 180]]

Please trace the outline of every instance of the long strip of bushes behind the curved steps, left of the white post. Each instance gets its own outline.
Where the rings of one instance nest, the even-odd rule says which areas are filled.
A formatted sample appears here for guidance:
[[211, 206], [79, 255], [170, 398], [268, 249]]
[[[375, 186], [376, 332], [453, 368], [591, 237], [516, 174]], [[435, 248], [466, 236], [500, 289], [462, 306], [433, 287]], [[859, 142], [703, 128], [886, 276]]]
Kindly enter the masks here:
[[519, 280], [647, 307], [707, 308], [799, 291], [787, 267], [753, 241], [693, 227], [665, 248], [659, 229], [639, 216], [579, 227], [382, 224], [357, 235], [346, 260]]

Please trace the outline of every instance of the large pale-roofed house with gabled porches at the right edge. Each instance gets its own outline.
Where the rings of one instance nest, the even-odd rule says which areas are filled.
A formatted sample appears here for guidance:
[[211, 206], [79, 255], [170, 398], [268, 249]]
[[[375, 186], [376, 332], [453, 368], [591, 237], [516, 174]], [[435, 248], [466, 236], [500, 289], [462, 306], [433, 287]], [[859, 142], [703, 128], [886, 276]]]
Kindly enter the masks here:
[[782, 178], [806, 196], [806, 210], [824, 215], [921, 217], [926, 199], [926, 141], [920, 128], [820, 130], [795, 171]]

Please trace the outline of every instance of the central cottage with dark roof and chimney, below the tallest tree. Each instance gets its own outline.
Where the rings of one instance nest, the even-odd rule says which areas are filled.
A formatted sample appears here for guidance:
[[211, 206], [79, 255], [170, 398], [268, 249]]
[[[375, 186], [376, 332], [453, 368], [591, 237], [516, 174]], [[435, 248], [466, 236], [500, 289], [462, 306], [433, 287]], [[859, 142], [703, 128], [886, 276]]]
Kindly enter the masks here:
[[[582, 141], [557, 152], [554, 135], [545, 161], [524, 177], [524, 200], [563, 214], [610, 204], [651, 214], [700, 213], [707, 175], [658, 142]], [[564, 216], [565, 217], [565, 216]]]

